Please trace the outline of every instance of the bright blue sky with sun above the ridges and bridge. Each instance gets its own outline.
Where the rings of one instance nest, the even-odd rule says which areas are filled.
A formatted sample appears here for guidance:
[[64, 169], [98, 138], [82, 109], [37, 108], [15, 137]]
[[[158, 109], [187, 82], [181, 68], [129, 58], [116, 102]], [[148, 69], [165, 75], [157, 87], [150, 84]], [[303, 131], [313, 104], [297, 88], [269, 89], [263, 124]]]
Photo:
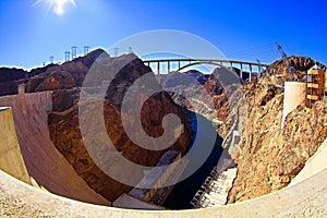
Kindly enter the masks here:
[[90, 50], [108, 48], [124, 37], [154, 29], [195, 34], [230, 59], [272, 62], [280, 58], [277, 41], [289, 56], [327, 64], [324, 0], [66, 0], [59, 15], [59, 4], [36, 1], [0, 1], [1, 66], [31, 69], [49, 62], [50, 56], [62, 62], [72, 46], [83, 55], [85, 45]]

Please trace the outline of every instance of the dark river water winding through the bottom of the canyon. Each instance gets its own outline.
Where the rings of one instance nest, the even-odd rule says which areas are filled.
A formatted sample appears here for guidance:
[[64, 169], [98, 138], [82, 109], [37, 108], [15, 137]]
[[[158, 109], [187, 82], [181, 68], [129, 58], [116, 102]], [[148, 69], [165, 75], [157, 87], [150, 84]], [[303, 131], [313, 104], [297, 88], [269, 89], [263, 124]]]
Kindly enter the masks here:
[[[216, 138], [211, 138], [211, 133], [216, 132], [215, 126], [213, 125], [211, 121], [205, 119], [203, 116], [196, 114], [192, 111], [186, 111], [189, 117], [192, 120], [192, 129], [195, 132], [194, 138], [201, 136], [201, 149], [209, 149], [208, 143], [215, 143], [211, 153], [209, 154], [206, 161], [201, 166], [198, 170], [195, 171], [191, 177], [181, 181], [174, 185], [171, 193], [167, 197], [166, 202], [164, 203], [164, 207], [169, 209], [190, 209], [192, 208], [190, 202], [192, 201], [195, 193], [198, 191], [201, 185], [204, 183], [205, 179], [210, 174], [214, 167], [217, 166], [218, 160], [222, 154], [222, 138], [215, 134]], [[202, 126], [197, 130], [197, 119], [202, 119]], [[202, 134], [199, 134], [202, 132]], [[208, 134], [205, 134], [208, 133]], [[209, 138], [210, 137], [210, 138]], [[192, 145], [190, 149], [194, 146]], [[187, 170], [187, 167], [185, 171]]]

